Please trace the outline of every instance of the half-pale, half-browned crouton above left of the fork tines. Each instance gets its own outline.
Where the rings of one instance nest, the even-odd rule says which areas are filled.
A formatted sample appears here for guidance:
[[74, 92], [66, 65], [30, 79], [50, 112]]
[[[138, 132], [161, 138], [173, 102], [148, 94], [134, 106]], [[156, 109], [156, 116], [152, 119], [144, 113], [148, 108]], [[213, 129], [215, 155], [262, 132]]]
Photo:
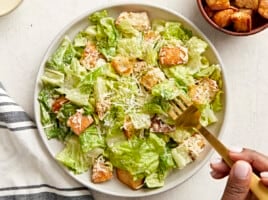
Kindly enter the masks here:
[[159, 68], [153, 68], [141, 77], [140, 83], [148, 90], [165, 80], [164, 73]]

